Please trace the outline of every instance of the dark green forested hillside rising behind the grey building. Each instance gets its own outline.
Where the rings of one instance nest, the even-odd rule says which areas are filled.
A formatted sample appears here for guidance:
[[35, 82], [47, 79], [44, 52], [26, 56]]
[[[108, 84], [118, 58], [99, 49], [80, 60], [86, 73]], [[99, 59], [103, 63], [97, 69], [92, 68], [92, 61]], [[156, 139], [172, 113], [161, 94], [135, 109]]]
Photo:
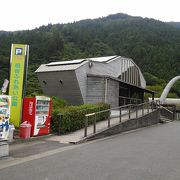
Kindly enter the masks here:
[[[57, 60], [115, 54], [130, 57], [151, 86], [164, 86], [180, 73], [180, 29], [154, 19], [114, 14], [34, 30], [0, 32], [0, 84], [8, 77], [11, 43], [30, 45], [28, 94], [41, 91], [35, 69]], [[152, 83], [153, 78], [158, 80]], [[180, 95], [178, 86], [174, 92]]]

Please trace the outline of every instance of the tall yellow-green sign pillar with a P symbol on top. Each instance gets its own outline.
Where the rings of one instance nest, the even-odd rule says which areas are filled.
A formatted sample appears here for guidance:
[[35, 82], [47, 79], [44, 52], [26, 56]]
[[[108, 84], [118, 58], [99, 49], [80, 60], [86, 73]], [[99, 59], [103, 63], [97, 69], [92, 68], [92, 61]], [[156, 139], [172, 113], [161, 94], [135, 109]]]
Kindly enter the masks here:
[[10, 122], [15, 127], [19, 127], [21, 122], [22, 97], [26, 85], [28, 55], [28, 45], [12, 44], [9, 95], [11, 96]]

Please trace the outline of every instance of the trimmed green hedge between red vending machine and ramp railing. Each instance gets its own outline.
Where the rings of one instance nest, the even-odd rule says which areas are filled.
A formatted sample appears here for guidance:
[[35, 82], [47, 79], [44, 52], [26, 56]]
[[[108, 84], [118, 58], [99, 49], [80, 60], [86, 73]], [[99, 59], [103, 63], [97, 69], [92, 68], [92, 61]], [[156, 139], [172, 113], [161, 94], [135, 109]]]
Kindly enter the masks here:
[[[80, 106], [55, 107], [52, 112], [51, 130], [58, 132], [59, 115], [61, 114], [60, 134], [73, 132], [84, 127], [85, 115], [93, 112], [109, 109], [110, 105], [104, 103], [84, 104]], [[104, 112], [96, 116], [96, 121], [107, 119], [109, 112]], [[93, 117], [94, 118], [94, 117]], [[93, 118], [89, 118], [88, 124], [93, 123]]]

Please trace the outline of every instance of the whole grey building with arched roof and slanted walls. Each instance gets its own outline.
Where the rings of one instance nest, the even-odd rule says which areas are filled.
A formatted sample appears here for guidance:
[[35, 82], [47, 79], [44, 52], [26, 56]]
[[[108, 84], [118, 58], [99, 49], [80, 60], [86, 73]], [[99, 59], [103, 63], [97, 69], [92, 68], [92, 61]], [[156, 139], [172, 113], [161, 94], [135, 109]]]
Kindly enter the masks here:
[[105, 102], [111, 107], [141, 103], [146, 81], [132, 59], [96, 57], [42, 64], [36, 70], [44, 94], [69, 104]]

